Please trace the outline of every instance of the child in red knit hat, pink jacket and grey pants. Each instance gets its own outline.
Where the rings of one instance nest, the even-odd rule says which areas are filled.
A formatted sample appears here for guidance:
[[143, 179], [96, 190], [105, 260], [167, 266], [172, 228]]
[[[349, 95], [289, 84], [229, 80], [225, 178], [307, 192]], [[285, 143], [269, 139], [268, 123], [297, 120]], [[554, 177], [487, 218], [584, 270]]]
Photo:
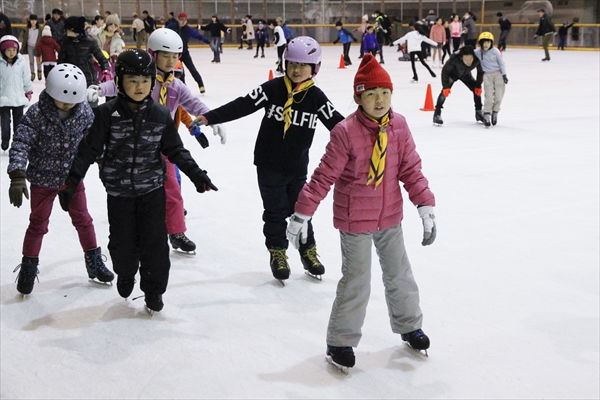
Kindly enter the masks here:
[[423, 219], [423, 246], [436, 236], [435, 198], [404, 117], [391, 109], [392, 80], [371, 54], [354, 78], [358, 109], [331, 131], [325, 155], [298, 196], [288, 240], [306, 238], [308, 221], [335, 184], [333, 225], [340, 231], [342, 279], [327, 328], [327, 359], [342, 371], [355, 363], [370, 294], [371, 247], [383, 270], [392, 331], [417, 350], [429, 348], [423, 314], [402, 235], [400, 182]]

